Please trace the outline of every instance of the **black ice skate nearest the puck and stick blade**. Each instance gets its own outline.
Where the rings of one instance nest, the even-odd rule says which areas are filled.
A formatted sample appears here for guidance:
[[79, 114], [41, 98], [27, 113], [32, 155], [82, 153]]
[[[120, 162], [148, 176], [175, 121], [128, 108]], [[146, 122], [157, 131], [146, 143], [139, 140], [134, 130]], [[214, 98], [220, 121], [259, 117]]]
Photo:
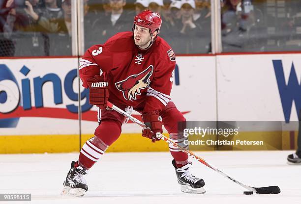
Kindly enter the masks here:
[[176, 174], [178, 182], [181, 185], [181, 191], [184, 193], [205, 193], [206, 190], [203, 188], [205, 182], [201, 178], [196, 178], [189, 172], [189, 167], [191, 162], [183, 166], [182, 168], [177, 168], [175, 159], [173, 160], [173, 165], [176, 169]]

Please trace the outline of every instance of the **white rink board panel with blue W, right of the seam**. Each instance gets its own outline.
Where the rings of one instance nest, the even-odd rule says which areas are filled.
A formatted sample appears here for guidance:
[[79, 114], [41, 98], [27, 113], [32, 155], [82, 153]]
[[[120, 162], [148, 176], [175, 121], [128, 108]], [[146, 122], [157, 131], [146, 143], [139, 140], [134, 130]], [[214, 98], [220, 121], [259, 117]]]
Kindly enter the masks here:
[[217, 56], [219, 121], [298, 121], [301, 54]]

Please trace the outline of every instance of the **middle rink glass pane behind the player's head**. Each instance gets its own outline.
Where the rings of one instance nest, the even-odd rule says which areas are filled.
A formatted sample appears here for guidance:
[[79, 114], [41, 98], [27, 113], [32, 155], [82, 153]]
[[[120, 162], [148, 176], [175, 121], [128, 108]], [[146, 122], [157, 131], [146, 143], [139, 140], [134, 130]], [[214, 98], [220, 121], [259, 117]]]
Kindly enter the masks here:
[[[123, 4], [117, 0], [89, 0], [84, 4], [85, 50], [94, 44], [105, 43], [117, 32], [131, 31], [136, 11], [140, 12], [140, 4], [136, 5], [135, 0], [126, 0]], [[211, 52], [210, 1], [196, 0], [195, 8], [185, 4], [183, 9], [174, 7], [170, 9], [170, 0], [164, 0], [163, 4], [152, 10], [159, 12], [162, 17], [159, 36], [165, 39], [176, 53]], [[115, 24], [111, 21], [110, 7], [123, 8]], [[184, 25], [182, 21], [187, 23]]]

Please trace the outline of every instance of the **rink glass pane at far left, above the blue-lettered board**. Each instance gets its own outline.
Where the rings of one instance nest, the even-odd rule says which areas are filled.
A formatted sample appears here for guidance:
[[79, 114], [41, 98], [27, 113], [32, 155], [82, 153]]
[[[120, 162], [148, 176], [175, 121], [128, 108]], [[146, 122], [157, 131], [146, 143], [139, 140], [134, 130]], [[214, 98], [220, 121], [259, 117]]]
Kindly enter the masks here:
[[70, 56], [71, 1], [58, 0], [52, 9], [42, 0], [29, 2], [32, 9], [5, 3], [0, 8], [0, 57]]

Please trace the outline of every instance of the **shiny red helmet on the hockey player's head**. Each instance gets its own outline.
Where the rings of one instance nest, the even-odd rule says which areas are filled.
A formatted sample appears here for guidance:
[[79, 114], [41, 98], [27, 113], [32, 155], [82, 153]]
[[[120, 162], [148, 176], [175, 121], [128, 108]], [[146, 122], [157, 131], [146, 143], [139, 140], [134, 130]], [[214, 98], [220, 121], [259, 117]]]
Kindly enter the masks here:
[[150, 10], [145, 10], [135, 16], [134, 24], [150, 28], [151, 33], [153, 33], [156, 30], [159, 31], [162, 19], [159, 14], [151, 12]]

